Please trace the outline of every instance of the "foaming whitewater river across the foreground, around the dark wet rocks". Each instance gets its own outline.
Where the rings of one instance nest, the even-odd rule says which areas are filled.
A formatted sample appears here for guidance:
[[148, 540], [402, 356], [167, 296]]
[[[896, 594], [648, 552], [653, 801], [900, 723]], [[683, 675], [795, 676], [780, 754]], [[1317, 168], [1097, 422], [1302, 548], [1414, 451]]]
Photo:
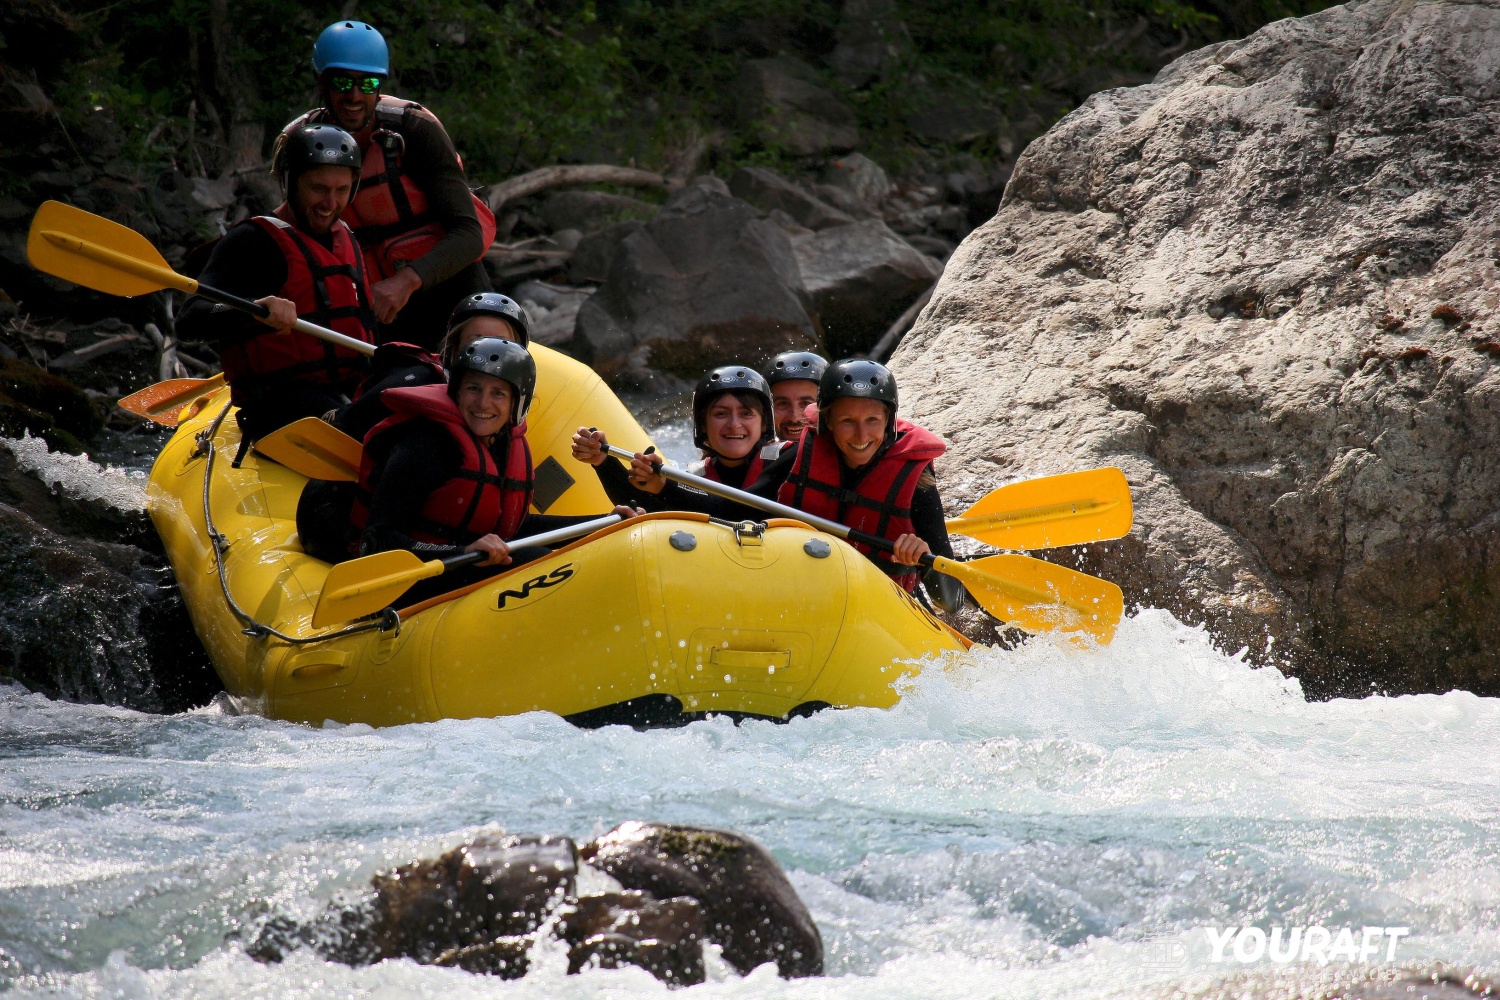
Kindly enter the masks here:
[[[891, 711], [582, 732], [156, 717], [0, 687], [0, 985], [76, 997], [1276, 996], [1500, 975], [1500, 703], [1308, 703], [1162, 612], [1112, 646], [932, 666]], [[406, 961], [261, 966], [238, 940], [480, 831], [621, 820], [760, 840], [828, 978], [669, 991], [639, 970], [501, 982]], [[1365, 963], [1210, 933], [1377, 931]], [[1299, 931], [1300, 933], [1300, 931]], [[1221, 939], [1222, 940], [1222, 939]], [[1388, 945], [1395, 942], [1395, 958]], [[1242, 936], [1245, 954], [1254, 936]], [[1335, 949], [1336, 951], [1336, 949]]]

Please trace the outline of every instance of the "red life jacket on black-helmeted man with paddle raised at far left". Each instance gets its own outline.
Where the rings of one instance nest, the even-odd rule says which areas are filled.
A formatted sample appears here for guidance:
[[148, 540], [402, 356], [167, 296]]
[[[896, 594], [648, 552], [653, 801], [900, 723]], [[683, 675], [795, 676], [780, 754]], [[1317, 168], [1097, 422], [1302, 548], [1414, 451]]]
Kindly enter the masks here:
[[[364, 265], [350, 228], [333, 223], [333, 249], [326, 249], [291, 222], [282, 202], [274, 216], [256, 216], [258, 225], [286, 259], [286, 280], [276, 292], [297, 306], [297, 316], [364, 343], [374, 343], [375, 316], [364, 286]], [[255, 390], [285, 382], [312, 382], [338, 394], [358, 387], [368, 363], [363, 354], [334, 346], [306, 333], [278, 333], [270, 327], [248, 340], [224, 348], [224, 378], [236, 405]]]

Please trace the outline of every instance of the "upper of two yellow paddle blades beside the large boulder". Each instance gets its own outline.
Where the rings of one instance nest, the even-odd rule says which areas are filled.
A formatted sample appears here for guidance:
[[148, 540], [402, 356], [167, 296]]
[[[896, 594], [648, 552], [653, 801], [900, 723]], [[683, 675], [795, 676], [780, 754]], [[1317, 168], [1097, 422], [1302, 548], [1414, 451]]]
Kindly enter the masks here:
[[1134, 508], [1130, 483], [1114, 468], [1011, 483], [948, 522], [948, 532], [996, 549], [1054, 549], [1119, 538]]

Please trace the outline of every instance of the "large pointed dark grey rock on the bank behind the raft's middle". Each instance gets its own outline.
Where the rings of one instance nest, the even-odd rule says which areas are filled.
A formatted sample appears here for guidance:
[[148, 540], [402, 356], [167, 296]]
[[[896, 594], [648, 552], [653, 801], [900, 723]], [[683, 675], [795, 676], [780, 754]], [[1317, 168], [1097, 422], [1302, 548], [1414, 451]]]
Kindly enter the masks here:
[[694, 181], [674, 193], [621, 241], [579, 310], [574, 351], [616, 384], [818, 346], [786, 232], [722, 187]]

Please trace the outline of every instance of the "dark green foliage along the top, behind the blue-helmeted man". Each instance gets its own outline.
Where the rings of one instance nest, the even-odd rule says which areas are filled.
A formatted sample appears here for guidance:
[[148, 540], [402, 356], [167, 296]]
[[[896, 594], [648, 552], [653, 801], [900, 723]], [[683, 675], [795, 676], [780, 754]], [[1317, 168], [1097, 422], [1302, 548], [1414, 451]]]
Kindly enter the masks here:
[[[597, 3], [597, 6], [596, 6]], [[662, 165], [711, 139], [710, 166], [792, 168], [740, 129], [735, 78], [776, 52], [826, 66], [843, 0], [366, 0], [352, 16], [392, 45], [388, 91], [447, 124], [471, 178], [494, 181], [579, 157]], [[228, 9], [214, 37], [216, 4]], [[310, 49], [342, 10], [297, 0], [64, 3], [86, 33], [58, 94], [64, 121], [108, 108], [124, 156], [216, 172], [225, 130], [250, 115], [272, 130], [312, 106]], [[866, 145], [891, 166], [933, 156], [1008, 154], [992, 133], [936, 148], [910, 130], [922, 102], [994, 108], [1022, 138], [1088, 93], [1144, 79], [1174, 55], [1326, 0], [898, 0], [909, 43], [861, 87], [819, 69], [860, 114]], [[1024, 133], [1024, 135], [1023, 135]], [[1012, 142], [1014, 144], [1014, 142]]]

